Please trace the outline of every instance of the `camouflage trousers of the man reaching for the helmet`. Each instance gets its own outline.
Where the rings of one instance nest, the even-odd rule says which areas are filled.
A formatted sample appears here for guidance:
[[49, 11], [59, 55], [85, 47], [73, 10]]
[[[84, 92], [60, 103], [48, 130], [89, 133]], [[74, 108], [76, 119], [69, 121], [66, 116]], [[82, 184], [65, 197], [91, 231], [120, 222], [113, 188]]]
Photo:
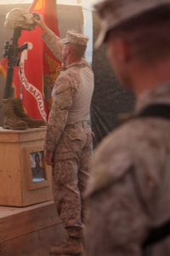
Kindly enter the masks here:
[[68, 125], [54, 152], [54, 202], [68, 236], [81, 238], [85, 215], [83, 193], [87, 187], [92, 132], [88, 125]]

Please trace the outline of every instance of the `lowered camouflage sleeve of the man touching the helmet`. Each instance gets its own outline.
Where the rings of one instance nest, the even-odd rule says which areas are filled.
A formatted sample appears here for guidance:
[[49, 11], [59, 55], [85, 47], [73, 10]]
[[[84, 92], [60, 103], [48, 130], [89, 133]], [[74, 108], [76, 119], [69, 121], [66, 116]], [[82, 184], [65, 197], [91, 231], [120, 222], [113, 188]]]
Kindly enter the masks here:
[[49, 113], [48, 127], [45, 137], [45, 149], [53, 152], [65, 129], [68, 112], [72, 106], [73, 96], [78, 89], [79, 81], [68, 70], [65, 75], [57, 79], [57, 86], [53, 96], [52, 108]]

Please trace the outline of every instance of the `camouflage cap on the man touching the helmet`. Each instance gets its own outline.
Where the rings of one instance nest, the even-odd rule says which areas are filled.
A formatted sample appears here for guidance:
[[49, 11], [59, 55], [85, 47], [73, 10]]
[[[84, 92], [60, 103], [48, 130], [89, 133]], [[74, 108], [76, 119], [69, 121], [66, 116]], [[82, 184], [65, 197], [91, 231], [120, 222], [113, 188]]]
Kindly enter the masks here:
[[79, 34], [74, 31], [67, 31], [66, 37], [63, 39], [63, 44], [79, 44], [79, 45], [87, 45], [88, 37], [82, 34]]

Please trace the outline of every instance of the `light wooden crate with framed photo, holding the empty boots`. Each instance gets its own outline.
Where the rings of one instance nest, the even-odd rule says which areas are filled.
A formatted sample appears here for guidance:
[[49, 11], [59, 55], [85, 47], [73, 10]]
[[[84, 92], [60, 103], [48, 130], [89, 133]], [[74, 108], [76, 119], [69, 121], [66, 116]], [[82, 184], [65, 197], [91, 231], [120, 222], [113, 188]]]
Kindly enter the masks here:
[[[25, 207], [53, 200], [51, 170], [44, 161], [45, 127], [24, 131], [0, 129], [0, 205]], [[35, 182], [31, 158], [40, 154], [44, 178]]]

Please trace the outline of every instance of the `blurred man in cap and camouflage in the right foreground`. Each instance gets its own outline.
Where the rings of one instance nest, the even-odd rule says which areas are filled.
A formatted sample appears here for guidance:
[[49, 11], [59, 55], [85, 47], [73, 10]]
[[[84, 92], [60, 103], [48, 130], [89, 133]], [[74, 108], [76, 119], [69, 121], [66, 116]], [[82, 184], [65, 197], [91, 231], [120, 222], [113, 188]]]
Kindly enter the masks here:
[[[170, 221], [170, 1], [105, 0], [95, 9], [103, 25], [97, 45], [105, 42], [137, 102], [132, 118], [94, 152], [86, 255], [167, 256], [170, 236], [161, 228]], [[156, 237], [158, 228], [154, 243], [150, 231]]]

